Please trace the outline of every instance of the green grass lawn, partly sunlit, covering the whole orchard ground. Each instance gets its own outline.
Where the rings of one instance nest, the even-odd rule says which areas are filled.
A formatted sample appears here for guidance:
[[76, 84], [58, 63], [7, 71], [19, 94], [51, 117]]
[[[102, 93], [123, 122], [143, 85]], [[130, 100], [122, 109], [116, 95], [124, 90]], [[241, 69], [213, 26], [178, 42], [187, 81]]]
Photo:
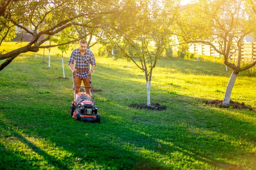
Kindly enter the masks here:
[[[5, 45], [10, 50], [13, 44]], [[97, 46], [91, 50], [98, 52]], [[148, 111], [128, 107], [146, 103], [143, 73], [124, 59], [96, 55], [92, 79], [102, 89], [95, 94], [102, 116], [97, 124], [69, 116], [71, 71], [66, 64], [70, 79], [57, 79], [61, 57], [52, 56], [51, 69], [44, 69], [42, 54], [21, 54], [0, 71], [0, 169], [256, 167], [256, 111], [204, 104], [224, 97], [231, 71], [220, 62], [161, 59], [153, 71], [151, 102], [167, 109]], [[256, 108], [255, 82], [248, 71], [239, 74], [231, 99]]]

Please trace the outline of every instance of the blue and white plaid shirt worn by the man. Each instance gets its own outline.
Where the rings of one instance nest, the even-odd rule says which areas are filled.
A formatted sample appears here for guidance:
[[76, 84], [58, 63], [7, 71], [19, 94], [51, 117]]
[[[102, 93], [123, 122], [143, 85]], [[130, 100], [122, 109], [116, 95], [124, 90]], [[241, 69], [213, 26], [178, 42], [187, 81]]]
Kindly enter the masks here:
[[72, 63], [75, 65], [75, 69], [87, 70], [87, 71], [78, 71], [75, 76], [79, 77], [80, 79], [85, 79], [89, 77], [88, 71], [90, 70], [90, 64], [96, 65], [94, 55], [92, 51], [86, 49], [83, 56], [81, 56], [80, 48], [76, 48], [72, 51], [70, 55], [70, 59], [68, 60], [68, 64]]

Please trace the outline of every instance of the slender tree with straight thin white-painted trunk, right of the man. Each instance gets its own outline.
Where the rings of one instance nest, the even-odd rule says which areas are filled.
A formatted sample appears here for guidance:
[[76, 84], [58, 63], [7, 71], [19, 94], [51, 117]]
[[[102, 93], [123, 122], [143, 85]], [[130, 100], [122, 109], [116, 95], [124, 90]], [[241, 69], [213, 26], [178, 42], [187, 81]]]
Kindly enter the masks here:
[[[118, 50], [117, 54], [113, 55], [115, 59], [124, 57], [128, 62], [134, 62], [145, 73], [147, 105], [150, 106], [152, 71], [172, 40], [172, 22], [178, 8], [175, 1], [171, 0], [164, 3], [158, 0], [139, 1], [137, 5], [139, 9], [133, 13], [137, 19], [134, 25], [122, 31], [103, 30], [105, 39], [101, 42], [107, 51]], [[125, 24], [127, 18], [122, 21], [122, 24]]]

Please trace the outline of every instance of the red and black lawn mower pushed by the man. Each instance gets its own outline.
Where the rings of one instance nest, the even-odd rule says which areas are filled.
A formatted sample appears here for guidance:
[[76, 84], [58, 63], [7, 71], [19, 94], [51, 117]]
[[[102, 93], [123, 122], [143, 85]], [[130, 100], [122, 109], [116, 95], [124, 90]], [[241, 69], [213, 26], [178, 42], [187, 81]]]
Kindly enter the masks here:
[[[84, 71], [84, 70], [78, 70]], [[74, 90], [74, 102], [70, 106], [70, 116], [74, 119], [88, 121], [88, 122], [98, 122], [100, 123], [100, 114], [98, 113], [97, 106], [95, 106], [94, 94], [93, 94], [93, 84], [90, 76], [91, 87], [87, 86], [75, 86], [75, 75], [73, 74], [73, 90]], [[90, 88], [92, 100], [89, 94], [78, 93], [76, 94], [76, 88]]]

